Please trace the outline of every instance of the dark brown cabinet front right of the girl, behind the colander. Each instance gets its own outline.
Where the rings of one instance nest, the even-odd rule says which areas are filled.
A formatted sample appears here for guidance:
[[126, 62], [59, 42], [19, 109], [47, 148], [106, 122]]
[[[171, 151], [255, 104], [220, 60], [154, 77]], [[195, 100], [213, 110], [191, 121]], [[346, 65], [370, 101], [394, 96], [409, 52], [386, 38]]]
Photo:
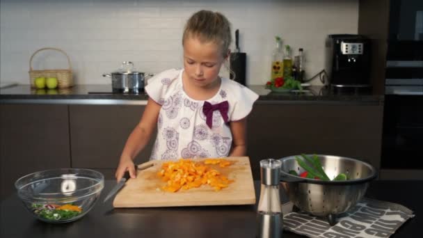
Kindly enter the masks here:
[[248, 156], [260, 179], [260, 160], [294, 154], [332, 154], [380, 167], [383, 106], [256, 104], [248, 118]]

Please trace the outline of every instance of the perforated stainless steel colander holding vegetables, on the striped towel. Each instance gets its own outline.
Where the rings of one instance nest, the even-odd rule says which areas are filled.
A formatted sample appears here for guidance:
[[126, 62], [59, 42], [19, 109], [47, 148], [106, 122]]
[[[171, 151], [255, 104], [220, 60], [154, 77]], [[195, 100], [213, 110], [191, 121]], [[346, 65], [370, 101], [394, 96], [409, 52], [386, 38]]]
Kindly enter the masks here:
[[[312, 156], [312, 154], [308, 154]], [[298, 157], [301, 157], [297, 155]], [[326, 175], [332, 180], [345, 173], [349, 180], [322, 181], [289, 174], [305, 170], [298, 165], [296, 156], [280, 159], [280, 181], [289, 200], [295, 207], [314, 216], [326, 216], [330, 225], [336, 223], [336, 216], [348, 211], [365, 195], [369, 182], [376, 178], [376, 169], [364, 161], [333, 155], [317, 155]]]

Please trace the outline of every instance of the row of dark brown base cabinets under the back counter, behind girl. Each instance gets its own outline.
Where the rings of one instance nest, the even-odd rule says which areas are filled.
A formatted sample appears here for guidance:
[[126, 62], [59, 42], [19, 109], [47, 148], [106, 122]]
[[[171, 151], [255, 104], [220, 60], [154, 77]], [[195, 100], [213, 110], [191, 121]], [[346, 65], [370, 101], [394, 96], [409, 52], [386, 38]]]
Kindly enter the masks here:
[[[93, 168], [114, 177], [122, 149], [141, 119], [141, 105], [0, 105], [1, 198], [15, 180], [47, 168]], [[382, 105], [258, 103], [248, 117], [253, 177], [260, 160], [299, 153], [334, 154], [379, 168]], [[135, 159], [150, 157], [155, 134]]]

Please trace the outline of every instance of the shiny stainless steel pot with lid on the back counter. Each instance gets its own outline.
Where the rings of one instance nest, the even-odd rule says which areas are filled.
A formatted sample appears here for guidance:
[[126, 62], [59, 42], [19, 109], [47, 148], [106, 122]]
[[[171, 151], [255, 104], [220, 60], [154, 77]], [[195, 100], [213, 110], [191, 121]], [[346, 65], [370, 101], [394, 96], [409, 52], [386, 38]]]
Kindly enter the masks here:
[[152, 74], [134, 71], [134, 63], [130, 61], [124, 61], [118, 71], [103, 74], [103, 77], [111, 77], [113, 93], [142, 93], [147, 76]]

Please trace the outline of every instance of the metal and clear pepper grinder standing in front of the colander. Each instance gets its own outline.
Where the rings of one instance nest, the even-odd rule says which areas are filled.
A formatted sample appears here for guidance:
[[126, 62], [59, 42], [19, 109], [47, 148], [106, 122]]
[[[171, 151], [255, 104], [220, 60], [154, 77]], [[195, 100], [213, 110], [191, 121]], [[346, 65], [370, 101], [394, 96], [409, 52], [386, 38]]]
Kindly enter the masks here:
[[280, 166], [277, 159], [260, 161], [260, 200], [257, 208], [259, 238], [282, 237], [282, 208], [280, 205]]

